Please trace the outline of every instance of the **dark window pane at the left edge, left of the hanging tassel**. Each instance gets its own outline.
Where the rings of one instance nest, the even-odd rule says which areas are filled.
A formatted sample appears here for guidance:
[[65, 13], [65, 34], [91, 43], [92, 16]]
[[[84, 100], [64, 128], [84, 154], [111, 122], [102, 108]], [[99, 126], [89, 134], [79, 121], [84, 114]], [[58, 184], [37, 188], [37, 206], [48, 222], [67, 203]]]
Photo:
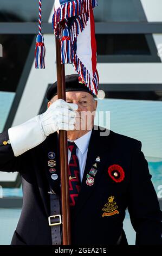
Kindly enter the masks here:
[[34, 35], [0, 35], [0, 91], [16, 92]]

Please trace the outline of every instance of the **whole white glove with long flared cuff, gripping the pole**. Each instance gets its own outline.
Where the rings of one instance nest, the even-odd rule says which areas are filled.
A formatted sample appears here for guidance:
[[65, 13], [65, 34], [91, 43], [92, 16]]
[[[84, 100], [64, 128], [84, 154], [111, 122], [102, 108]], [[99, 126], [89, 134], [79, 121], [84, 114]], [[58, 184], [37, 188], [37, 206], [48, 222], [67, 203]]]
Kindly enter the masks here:
[[11, 127], [9, 139], [15, 156], [41, 144], [47, 136], [59, 130], [74, 130], [78, 106], [64, 100], [56, 100], [46, 112], [27, 122]]

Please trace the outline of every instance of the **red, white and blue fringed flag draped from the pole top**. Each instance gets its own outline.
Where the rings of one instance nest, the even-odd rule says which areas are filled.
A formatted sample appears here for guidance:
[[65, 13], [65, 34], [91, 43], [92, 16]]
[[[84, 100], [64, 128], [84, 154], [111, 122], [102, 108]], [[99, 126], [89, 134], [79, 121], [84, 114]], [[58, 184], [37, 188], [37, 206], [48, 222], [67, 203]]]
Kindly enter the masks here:
[[97, 0], [55, 0], [54, 34], [61, 42], [62, 63], [72, 63], [89, 90], [98, 94], [93, 8]]

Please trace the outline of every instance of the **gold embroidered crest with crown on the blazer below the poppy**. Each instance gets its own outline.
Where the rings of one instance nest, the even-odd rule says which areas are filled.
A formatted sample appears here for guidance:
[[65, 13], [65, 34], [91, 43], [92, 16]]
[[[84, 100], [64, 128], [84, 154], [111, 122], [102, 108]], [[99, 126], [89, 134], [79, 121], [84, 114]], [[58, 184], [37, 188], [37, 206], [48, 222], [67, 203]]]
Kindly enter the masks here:
[[105, 207], [102, 208], [102, 211], [104, 211], [102, 217], [119, 214], [119, 211], [116, 209], [118, 209], [118, 205], [114, 202], [114, 197], [111, 196], [108, 198], [108, 203], [106, 203]]

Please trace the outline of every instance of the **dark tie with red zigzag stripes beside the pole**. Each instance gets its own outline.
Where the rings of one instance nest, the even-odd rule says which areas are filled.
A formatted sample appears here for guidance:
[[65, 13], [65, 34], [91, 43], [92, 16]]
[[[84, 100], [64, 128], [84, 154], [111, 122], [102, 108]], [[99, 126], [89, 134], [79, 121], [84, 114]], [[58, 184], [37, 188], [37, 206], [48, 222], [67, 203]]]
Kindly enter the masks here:
[[69, 162], [69, 205], [74, 206], [80, 191], [80, 169], [79, 160], [76, 156], [76, 144], [75, 142], [68, 142], [68, 149], [71, 152]]

